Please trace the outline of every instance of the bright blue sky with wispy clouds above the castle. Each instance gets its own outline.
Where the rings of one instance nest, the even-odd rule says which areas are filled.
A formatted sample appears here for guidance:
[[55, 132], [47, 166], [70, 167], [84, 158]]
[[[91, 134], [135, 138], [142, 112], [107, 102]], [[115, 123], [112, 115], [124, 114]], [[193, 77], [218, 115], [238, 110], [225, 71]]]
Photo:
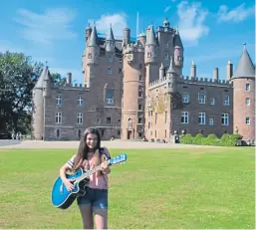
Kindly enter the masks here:
[[219, 68], [220, 79], [226, 78], [228, 60], [236, 66], [246, 42], [255, 63], [254, 1], [114, 1], [114, 0], [9, 0], [0, 8], [0, 52], [24, 52], [35, 61], [45, 63], [51, 72], [82, 83], [82, 55], [85, 28], [95, 21], [105, 33], [110, 24], [115, 36], [122, 36], [126, 25], [131, 36], [151, 23], [162, 25], [165, 17], [171, 27], [178, 26], [184, 46], [183, 75], [189, 75], [191, 61], [197, 76], [211, 78]]

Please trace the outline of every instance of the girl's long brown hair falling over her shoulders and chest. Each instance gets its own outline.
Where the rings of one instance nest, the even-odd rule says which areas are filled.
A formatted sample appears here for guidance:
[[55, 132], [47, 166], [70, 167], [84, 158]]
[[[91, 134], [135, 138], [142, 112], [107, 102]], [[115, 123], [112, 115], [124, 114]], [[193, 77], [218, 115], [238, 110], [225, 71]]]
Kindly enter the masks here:
[[[97, 144], [95, 146], [94, 152], [94, 156], [93, 156], [93, 167], [98, 166], [99, 164], [101, 164], [101, 162], [103, 162], [104, 160], [104, 154], [100, 154], [100, 148], [101, 148], [101, 135], [99, 130], [96, 127], [88, 127], [81, 140], [80, 140], [80, 144], [79, 144], [79, 149], [78, 152], [75, 156], [75, 164], [74, 164], [74, 170], [77, 170], [78, 168], [80, 168], [82, 166], [82, 163], [85, 159], [88, 159], [88, 152], [90, 151], [88, 145], [87, 145], [87, 136], [88, 134], [96, 134], [97, 135]], [[100, 157], [101, 155], [101, 157]], [[100, 176], [100, 171], [96, 172], [97, 176]]]

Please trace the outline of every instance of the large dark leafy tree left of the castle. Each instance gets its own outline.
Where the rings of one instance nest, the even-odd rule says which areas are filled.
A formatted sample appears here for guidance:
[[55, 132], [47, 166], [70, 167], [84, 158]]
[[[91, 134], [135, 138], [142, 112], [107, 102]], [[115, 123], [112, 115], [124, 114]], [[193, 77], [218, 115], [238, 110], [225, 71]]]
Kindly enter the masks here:
[[0, 128], [28, 132], [32, 90], [43, 64], [22, 53], [0, 53]]

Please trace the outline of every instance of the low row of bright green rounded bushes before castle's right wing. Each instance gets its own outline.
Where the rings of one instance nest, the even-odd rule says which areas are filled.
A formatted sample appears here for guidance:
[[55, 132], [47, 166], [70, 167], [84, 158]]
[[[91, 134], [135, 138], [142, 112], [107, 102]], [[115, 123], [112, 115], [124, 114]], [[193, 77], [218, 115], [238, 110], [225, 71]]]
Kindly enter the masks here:
[[238, 133], [225, 133], [221, 136], [221, 138], [218, 138], [215, 134], [204, 136], [201, 133], [198, 133], [195, 136], [192, 136], [190, 133], [179, 136], [180, 143], [216, 146], [236, 146], [238, 145], [237, 143], [239, 139], [242, 139], [242, 136]]

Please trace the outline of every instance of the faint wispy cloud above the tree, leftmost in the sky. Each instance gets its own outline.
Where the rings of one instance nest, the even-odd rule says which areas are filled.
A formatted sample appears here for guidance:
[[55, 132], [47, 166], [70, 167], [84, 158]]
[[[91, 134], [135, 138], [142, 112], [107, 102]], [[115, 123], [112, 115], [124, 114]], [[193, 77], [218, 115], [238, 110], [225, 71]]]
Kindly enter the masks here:
[[21, 34], [26, 40], [51, 44], [54, 40], [76, 37], [76, 33], [71, 29], [76, 14], [70, 9], [48, 9], [42, 14], [19, 9], [17, 13], [18, 17], [14, 21], [23, 26]]

